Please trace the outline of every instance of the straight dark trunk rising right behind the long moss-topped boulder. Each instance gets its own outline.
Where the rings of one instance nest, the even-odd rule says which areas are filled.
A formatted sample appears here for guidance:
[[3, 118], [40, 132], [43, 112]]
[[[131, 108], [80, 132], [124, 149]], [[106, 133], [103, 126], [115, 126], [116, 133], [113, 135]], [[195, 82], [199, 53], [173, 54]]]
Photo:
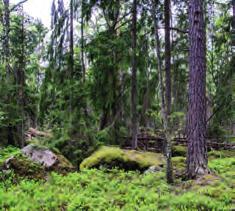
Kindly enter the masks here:
[[132, 8], [132, 76], [131, 76], [131, 114], [132, 114], [132, 148], [136, 149], [137, 146], [137, 130], [138, 130], [138, 114], [137, 114], [137, 0], [133, 0]]

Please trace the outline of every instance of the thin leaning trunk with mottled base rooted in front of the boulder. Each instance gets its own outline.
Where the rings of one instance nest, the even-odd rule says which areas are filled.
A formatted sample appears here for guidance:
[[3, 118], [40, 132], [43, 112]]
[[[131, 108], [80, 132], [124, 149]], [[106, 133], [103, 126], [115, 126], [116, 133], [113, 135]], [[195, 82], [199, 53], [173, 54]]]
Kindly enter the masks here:
[[158, 34], [158, 21], [156, 18], [156, 11], [157, 11], [157, 1], [152, 0], [152, 16], [154, 21], [154, 31], [155, 31], [155, 41], [156, 41], [156, 53], [157, 53], [157, 64], [158, 64], [158, 77], [159, 77], [159, 87], [160, 87], [160, 98], [161, 98], [161, 116], [163, 120], [163, 128], [166, 138], [166, 148], [165, 148], [165, 156], [166, 156], [166, 179], [168, 183], [173, 183], [173, 173], [172, 173], [172, 162], [171, 162], [171, 134], [169, 129], [168, 123], [168, 114], [167, 108], [165, 103], [165, 95], [164, 95], [164, 88], [163, 88], [163, 68], [161, 62], [161, 51], [160, 51], [160, 38]]

